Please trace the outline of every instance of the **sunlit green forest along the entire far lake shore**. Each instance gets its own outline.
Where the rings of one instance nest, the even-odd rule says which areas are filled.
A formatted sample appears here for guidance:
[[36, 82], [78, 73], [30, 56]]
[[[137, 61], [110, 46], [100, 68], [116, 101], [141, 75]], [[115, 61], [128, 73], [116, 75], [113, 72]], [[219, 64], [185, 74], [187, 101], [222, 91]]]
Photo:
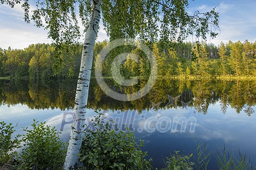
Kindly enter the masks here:
[[[97, 42], [94, 58], [99, 55], [108, 41]], [[139, 43], [139, 42], [137, 42]], [[253, 78], [256, 75], [256, 42], [232, 42], [218, 46], [205, 42], [184, 42], [147, 44], [153, 51], [158, 63], [158, 78]], [[132, 48], [132, 49], [131, 49]], [[32, 80], [45, 78], [77, 78], [80, 67], [82, 45], [74, 45], [70, 51], [61, 51], [58, 61], [55, 59], [53, 44], [32, 44], [20, 50], [9, 47], [0, 49], [0, 77], [26, 78]], [[120, 47], [119, 51], [131, 50], [138, 55], [128, 55], [121, 65], [121, 74], [125, 77], [139, 76], [142, 79], [150, 74], [150, 64], [143, 52], [134, 47]], [[111, 77], [111, 64], [116, 57], [110, 52], [102, 66], [103, 76]], [[56, 72], [56, 62], [59, 62]], [[94, 68], [98, 68], [94, 60]], [[93, 69], [94, 72], [94, 69]], [[92, 76], [94, 77], [94, 73]]]

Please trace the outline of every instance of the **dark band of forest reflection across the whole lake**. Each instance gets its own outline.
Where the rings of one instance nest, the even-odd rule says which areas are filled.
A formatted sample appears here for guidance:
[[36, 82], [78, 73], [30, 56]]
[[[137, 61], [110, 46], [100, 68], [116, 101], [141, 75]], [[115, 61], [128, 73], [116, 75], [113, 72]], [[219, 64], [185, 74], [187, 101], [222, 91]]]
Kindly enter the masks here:
[[[109, 81], [110, 82], [110, 81]], [[141, 83], [143, 85], [144, 82]], [[140, 85], [140, 86], [141, 86]], [[113, 89], [130, 94], [139, 86]], [[256, 105], [256, 81], [157, 81], [152, 90], [142, 98], [131, 101], [116, 101], [102, 92], [95, 79], [89, 90], [88, 107], [103, 110], [143, 110], [193, 107], [197, 113], [207, 114], [210, 104], [220, 103], [221, 112], [231, 106], [236, 113], [244, 111], [248, 116], [254, 113]], [[74, 106], [76, 80], [0, 80], [1, 105], [26, 104], [30, 109], [72, 109]]]

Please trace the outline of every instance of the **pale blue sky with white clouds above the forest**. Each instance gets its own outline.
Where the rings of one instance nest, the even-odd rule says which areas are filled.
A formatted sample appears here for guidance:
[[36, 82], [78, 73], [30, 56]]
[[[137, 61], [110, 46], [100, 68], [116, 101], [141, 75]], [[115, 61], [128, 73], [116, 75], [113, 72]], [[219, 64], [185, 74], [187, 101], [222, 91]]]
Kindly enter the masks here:
[[[256, 41], [256, 0], [189, 0], [191, 14], [210, 11], [216, 8], [219, 13], [219, 35], [215, 39], [207, 38], [207, 43], [218, 45], [221, 41]], [[97, 41], [108, 39], [102, 22]], [[195, 41], [189, 36], [185, 41]], [[199, 39], [200, 40], [200, 39]], [[20, 6], [10, 8], [0, 5], [0, 48], [23, 49], [30, 44], [51, 43], [47, 30], [37, 28], [33, 23], [25, 23]]]

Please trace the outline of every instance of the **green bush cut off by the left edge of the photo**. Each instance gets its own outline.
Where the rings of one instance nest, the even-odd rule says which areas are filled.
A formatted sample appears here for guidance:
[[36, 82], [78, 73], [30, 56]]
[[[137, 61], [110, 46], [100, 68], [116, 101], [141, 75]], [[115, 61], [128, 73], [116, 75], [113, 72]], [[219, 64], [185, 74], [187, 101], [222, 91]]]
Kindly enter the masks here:
[[12, 123], [0, 121], [0, 167], [12, 161], [17, 155], [15, 149], [20, 148], [20, 135], [12, 139], [15, 132]]

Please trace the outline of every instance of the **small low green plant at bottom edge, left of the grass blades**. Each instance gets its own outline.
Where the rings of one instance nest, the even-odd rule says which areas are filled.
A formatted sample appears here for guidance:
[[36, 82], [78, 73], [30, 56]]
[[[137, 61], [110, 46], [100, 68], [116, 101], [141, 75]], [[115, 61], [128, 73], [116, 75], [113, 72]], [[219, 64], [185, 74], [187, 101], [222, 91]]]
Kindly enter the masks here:
[[171, 157], [165, 157], [165, 168], [161, 170], [193, 170], [195, 163], [190, 162], [193, 154], [180, 155], [179, 151], [171, 154]]

